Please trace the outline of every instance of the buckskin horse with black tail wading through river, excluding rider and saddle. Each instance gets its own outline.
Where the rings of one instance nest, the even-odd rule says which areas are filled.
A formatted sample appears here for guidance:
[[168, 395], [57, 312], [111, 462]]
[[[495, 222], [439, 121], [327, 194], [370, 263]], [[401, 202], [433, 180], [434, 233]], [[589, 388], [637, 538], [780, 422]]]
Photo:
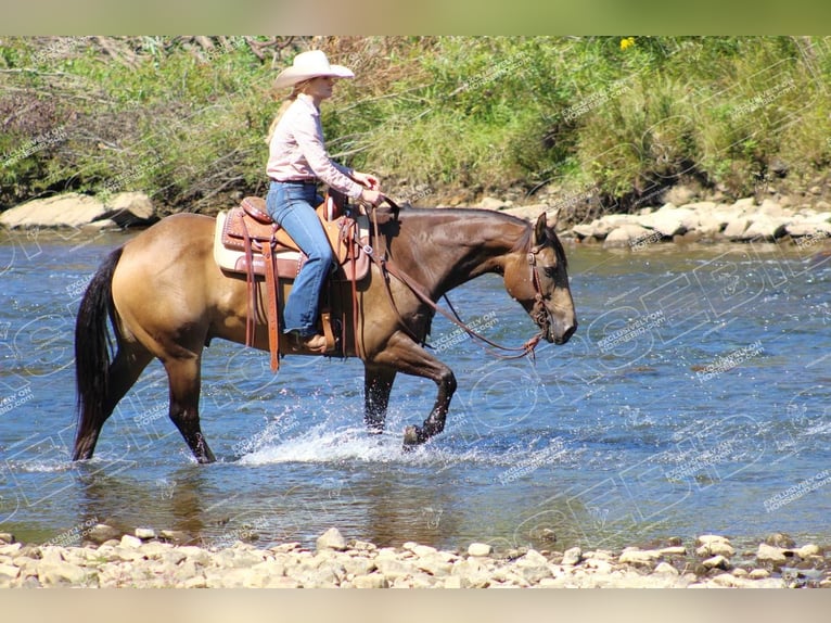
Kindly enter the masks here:
[[[438, 387], [423, 424], [406, 427], [404, 447], [444, 429], [457, 382], [425, 340], [435, 302], [471, 279], [502, 276], [508, 293], [540, 330], [529, 343], [568, 341], [577, 320], [555, 225], [555, 215], [549, 220], [541, 214], [530, 224], [484, 209], [406, 207], [380, 226], [372, 244], [384, 247], [384, 260], [373, 263], [359, 284], [358, 305], [343, 310], [350, 316], [344, 355], [359, 356], [365, 366], [370, 432], [383, 431], [398, 372]], [[245, 343], [250, 293], [244, 277], [214, 262], [214, 227], [215, 219], [204, 215], [168, 216], [113, 251], [92, 277], [76, 319], [73, 460], [92, 457], [102, 425], [154, 357], [167, 372], [170, 419], [199, 462], [215, 460], [199, 418], [203, 349], [215, 338]], [[261, 322], [254, 346], [268, 351]]]

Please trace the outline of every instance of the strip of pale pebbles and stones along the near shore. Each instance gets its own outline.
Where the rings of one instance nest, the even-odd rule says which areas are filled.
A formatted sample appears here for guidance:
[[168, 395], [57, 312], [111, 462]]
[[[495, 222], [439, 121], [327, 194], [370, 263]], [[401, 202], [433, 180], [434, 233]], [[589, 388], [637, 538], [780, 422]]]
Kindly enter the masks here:
[[[90, 533], [105, 534], [108, 526]], [[112, 530], [112, 529], [110, 529]], [[174, 543], [172, 533], [135, 535], [84, 546], [31, 545], [0, 534], [0, 587], [175, 588], [797, 588], [831, 587], [831, 550], [796, 546], [787, 535], [737, 551], [720, 535], [669, 539], [651, 548], [495, 552], [483, 543], [440, 550], [406, 543], [378, 547], [347, 541], [337, 529], [315, 549], [285, 543], [259, 549]]]

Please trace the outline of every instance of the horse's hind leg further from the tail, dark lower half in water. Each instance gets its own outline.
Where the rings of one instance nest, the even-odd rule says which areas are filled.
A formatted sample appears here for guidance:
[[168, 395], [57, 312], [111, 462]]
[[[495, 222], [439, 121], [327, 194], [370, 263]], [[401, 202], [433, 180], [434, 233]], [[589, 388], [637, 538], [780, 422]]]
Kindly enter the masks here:
[[172, 358], [164, 363], [170, 382], [170, 419], [201, 463], [214, 462], [214, 453], [200, 428], [201, 357]]

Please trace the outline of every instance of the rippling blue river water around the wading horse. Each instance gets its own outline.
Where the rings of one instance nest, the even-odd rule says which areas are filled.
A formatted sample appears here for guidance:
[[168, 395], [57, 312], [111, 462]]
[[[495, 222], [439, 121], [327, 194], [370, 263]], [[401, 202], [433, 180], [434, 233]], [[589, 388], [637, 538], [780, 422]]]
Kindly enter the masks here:
[[[89, 526], [182, 530], [197, 543], [314, 544], [330, 526], [379, 545], [618, 548], [720, 533], [831, 542], [831, 257], [821, 245], [566, 245], [580, 327], [536, 361], [491, 357], [438, 317], [457, 374], [445, 432], [401, 432], [435, 398], [399, 377], [387, 432], [362, 427], [355, 359], [214, 342], [199, 466], [153, 364], [104, 427], [75, 433], [73, 328], [86, 283], [130, 234], [0, 231], [0, 531], [77, 543]], [[816, 242], [816, 241], [814, 241]], [[501, 280], [451, 293], [470, 323], [535, 333]]]

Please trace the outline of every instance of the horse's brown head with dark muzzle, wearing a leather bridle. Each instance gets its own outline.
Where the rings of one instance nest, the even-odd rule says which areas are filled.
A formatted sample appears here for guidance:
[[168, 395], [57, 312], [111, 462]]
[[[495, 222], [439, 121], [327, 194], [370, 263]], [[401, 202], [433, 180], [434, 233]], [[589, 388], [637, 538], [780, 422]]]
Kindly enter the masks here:
[[506, 265], [504, 283], [542, 331], [554, 344], [565, 344], [577, 330], [574, 301], [568, 288], [565, 251], [554, 233], [557, 214], [541, 214], [533, 231], [516, 249], [515, 259]]

